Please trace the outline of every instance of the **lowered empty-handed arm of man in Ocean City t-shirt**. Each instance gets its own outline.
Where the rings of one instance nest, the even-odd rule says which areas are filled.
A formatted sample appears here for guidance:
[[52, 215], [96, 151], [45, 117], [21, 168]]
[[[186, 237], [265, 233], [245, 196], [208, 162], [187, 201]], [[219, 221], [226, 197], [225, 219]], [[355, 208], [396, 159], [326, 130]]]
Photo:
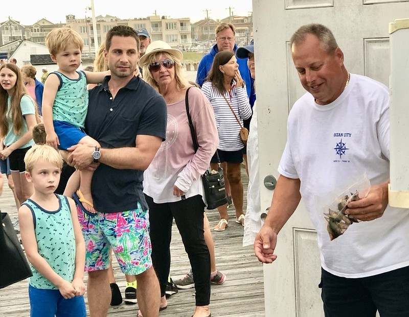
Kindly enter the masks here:
[[272, 263], [277, 259], [274, 250], [277, 235], [301, 200], [300, 179], [280, 175], [263, 227], [254, 241], [254, 251], [260, 262]]

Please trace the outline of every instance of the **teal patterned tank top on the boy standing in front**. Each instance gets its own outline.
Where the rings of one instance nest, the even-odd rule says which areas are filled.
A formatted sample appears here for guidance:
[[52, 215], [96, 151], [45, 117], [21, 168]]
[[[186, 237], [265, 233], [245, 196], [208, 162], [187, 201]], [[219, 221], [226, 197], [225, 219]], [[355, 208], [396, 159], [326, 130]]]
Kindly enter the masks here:
[[[75, 272], [75, 237], [71, 219], [70, 204], [65, 196], [56, 194], [59, 208], [48, 211], [28, 199], [28, 206], [33, 215], [34, 232], [37, 240], [38, 253], [44, 258], [64, 280], [72, 282]], [[33, 276], [30, 285], [39, 289], [58, 289], [53, 283], [42, 276], [31, 265]]]

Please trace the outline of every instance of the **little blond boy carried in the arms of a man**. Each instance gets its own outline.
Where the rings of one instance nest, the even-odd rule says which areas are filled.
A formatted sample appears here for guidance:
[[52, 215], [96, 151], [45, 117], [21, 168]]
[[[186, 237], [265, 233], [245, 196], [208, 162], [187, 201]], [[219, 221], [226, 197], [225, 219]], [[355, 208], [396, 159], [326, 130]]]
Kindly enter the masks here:
[[[98, 162], [100, 145], [83, 131], [88, 108], [86, 85], [102, 82], [110, 72], [77, 70], [81, 65], [83, 41], [71, 28], [53, 29], [46, 37], [46, 45], [51, 59], [58, 65], [44, 84], [42, 114], [47, 144], [60, 150], [67, 150], [76, 144], [90, 145], [95, 151], [89, 155]], [[95, 213], [91, 196], [92, 176], [92, 170], [81, 170], [77, 195], [83, 207]]]

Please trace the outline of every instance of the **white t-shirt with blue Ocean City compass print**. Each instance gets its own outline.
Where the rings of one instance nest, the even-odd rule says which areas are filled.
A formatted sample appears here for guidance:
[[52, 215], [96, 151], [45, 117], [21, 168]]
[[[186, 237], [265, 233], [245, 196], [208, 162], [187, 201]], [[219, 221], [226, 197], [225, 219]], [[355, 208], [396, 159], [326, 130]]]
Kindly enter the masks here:
[[323, 202], [334, 200], [365, 173], [371, 185], [389, 179], [389, 90], [353, 75], [331, 104], [310, 93], [290, 111], [279, 173], [301, 180], [301, 194], [318, 233], [324, 270], [359, 278], [409, 265], [409, 210], [387, 207], [382, 217], [352, 224], [330, 241]]

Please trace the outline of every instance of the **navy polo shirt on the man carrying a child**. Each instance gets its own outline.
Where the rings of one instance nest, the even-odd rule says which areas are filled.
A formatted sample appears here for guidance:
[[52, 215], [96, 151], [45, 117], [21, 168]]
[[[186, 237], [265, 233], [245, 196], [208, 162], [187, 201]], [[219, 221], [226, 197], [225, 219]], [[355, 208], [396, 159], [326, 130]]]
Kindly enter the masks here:
[[[165, 140], [166, 102], [156, 90], [139, 77], [121, 88], [115, 99], [105, 77], [102, 85], [89, 91], [85, 132], [102, 148], [135, 147], [137, 135], [153, 135]], [[91, 191], [99, 212], [148, 209], [143, 194], [143, 170], [116, 169], [100, 164], [94, 172]]]

